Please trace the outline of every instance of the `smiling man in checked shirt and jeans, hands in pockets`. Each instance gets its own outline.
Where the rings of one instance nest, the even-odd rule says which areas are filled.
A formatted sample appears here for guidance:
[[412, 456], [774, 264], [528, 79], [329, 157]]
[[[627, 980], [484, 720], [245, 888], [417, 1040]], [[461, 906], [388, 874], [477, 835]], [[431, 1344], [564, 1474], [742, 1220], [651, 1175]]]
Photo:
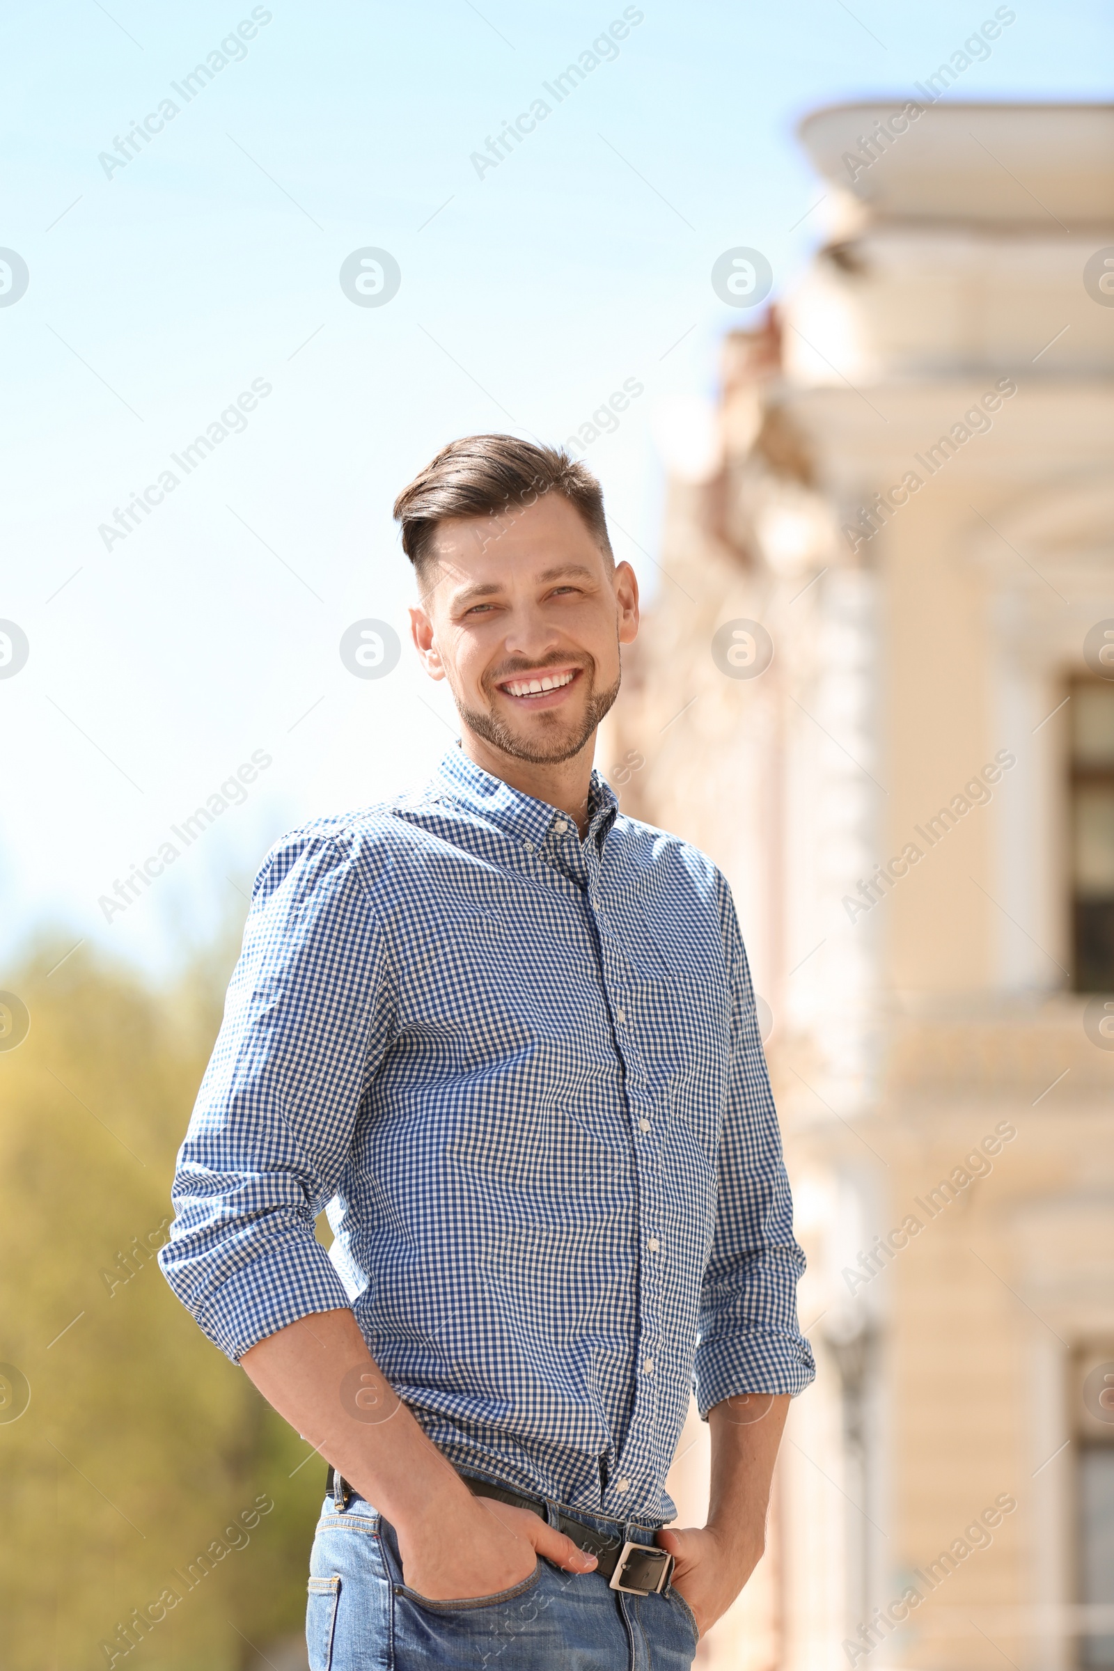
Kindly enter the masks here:
[[[312, 1671], [681, 1671], [812, 1379], [747, 959], [591, 769], [638, 630], [595, 478], [471, 436], [394, 513], [461, 740], [267, 857], [162, 1267], [331, 1464]], [[708, 1524], [663, 1531], [693, 1374]]]

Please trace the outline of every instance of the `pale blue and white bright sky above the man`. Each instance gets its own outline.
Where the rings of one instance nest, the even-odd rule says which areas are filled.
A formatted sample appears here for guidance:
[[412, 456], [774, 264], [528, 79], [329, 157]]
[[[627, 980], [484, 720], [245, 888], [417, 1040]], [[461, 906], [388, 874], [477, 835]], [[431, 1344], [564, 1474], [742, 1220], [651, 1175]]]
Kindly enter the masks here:
[[[785, 294], [823, 237], [800, 117], [912, 95], [995, 10], [952, 94], [1111, 97], [1097, 3], [8, 8], [0, 988], [43, 926], [165, 971], [282, 830], [428, 775], [453, 710], [391, 505], [448, 439], [563, 441], [638, 384], [585, 458], [651, 600], [655, 436], [757, 323], [717, 257]], [[341, 653], [369, 620], [401, 640], [376, 678]]]

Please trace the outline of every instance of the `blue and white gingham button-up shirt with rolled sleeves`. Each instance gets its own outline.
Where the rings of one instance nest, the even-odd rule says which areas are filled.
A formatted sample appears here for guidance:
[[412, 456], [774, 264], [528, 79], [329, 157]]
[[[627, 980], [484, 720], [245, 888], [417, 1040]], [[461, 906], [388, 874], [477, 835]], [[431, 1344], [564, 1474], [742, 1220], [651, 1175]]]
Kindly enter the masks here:
[[803, 1257], [728, 886], [590, 815], [454, 745], [272, 849], [160, 1263], [230, 1359], [351, 1305], [458, 1467], [671, 1519], [690, 1389], [812, 1379]]

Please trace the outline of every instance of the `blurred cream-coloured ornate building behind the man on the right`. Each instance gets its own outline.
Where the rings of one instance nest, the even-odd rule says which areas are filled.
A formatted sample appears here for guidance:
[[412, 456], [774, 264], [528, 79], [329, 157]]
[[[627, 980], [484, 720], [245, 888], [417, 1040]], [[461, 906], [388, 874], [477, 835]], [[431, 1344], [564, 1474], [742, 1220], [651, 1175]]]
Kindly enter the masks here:
[[802, 137], [827, 242], [685, 418], [601, 760], [730, 876], [810, 1260], [700, 1663], [1114, 1666], [1114, 109]]

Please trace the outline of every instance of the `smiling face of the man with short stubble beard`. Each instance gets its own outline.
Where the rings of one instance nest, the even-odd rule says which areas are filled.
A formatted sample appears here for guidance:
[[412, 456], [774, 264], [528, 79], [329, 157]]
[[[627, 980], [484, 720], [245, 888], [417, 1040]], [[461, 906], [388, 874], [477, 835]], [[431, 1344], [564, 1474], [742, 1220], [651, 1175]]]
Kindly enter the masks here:
[[615, 568], [560, 493], [499, 518], [438, 525], [411, 632], [466, 725], [518, 760], [570, 760], [620, 688], [638, 582]]

